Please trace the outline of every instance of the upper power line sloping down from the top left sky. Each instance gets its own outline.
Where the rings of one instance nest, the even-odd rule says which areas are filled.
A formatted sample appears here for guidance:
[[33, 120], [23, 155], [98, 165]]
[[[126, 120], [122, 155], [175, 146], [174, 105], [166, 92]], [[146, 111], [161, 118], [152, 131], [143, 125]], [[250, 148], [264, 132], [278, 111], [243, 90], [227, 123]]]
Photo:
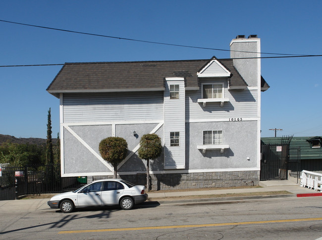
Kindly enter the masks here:
[[[18, 22], [6, 21], [6, 20], [0, 20], [0, 21], [5, 22], [5, 23], [12, 23], [12, 24], [18, 24], [18, 25], [24, 25], [24, 26], [30, 26], [30, 27], [36, 27], [36, 28], [44, 28], [44, 29], [63, 31], [63, 32], [68, 32], [68, 33], [85, 34], [85, 35], [104, 37], [104, 38], [111, 38], [111, 39], [119, 39], [119, 40], [130, 40], [130, 41], [154, 43], [154, 44], [161, 44], [161, 45], [168, 45], [168, 46], [190, 47], [190, 48], [216, 50], [216, 51], [234, 51], [234, 52], [260, 53], [260, 52], [237, 51], [237, 50], [228, 50], [228, 49], [220, 49], [220, 48], [210, 48], [210, 47], [189, 46], [189, 45], [172, 44], [172, 43], [164, 43], [164, 42], [148, 41], [148, 40], [129, 39], [129, 38], [121, 38], [121, 37], [107, 36], [107, 35], [101, 35], [101, 34], [92, 34], [92, 33], [78, 32], [78, 31], [72, 31], [72, 30], [65, 30], [65, 29], [59, 29], [59, 28], [38, 26], [38, 25], [32, 25], [32, 24], [26, 24], [26, 23], [18, 23]], [[269, 52], [261, 52], [261, 53], [262, 54], [272, 54], [272, 55], [306, 56], [306, 55], [302, 55], [302, 54], [269, 53]]]

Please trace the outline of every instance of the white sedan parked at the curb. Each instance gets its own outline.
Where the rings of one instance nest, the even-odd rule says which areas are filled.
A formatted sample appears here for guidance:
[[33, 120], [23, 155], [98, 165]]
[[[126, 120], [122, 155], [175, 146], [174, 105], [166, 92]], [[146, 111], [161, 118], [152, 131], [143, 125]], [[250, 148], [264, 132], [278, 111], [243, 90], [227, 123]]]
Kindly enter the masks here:
[[48, 201], [51, 208], [60, 208], [64, 213], [75, 207], [120, 205], [124, 210], [148, 199], [145, 186], [134, 185], [121, 179], [94, 181], [73, 192], [55, 195]]

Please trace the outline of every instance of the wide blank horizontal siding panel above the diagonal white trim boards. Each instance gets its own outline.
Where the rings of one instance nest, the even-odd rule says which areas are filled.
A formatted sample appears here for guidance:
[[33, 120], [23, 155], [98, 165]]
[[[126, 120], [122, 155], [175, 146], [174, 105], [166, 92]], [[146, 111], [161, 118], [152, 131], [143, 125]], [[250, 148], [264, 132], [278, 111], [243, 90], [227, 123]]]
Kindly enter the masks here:
[[64, 94], [63, 121], [163, 120], [163, 92]]

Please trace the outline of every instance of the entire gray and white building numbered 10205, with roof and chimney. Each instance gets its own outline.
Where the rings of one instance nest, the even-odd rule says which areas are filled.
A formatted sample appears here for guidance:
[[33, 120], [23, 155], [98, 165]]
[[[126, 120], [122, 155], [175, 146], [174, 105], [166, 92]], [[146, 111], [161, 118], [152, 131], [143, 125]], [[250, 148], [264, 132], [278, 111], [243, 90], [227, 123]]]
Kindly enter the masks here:
[[230, 48], [231, 59], [66, 63], [47, 89], [60, 99], [62, 176], [112, 177], [99, 143], [118, 136], [129, 149], [119, 176], [144, 184], [139, 141], [156, 133], [163, 151], [151, 161], [153, 190], [258, 185], [269, 87], [260, 39], [237, 36]]

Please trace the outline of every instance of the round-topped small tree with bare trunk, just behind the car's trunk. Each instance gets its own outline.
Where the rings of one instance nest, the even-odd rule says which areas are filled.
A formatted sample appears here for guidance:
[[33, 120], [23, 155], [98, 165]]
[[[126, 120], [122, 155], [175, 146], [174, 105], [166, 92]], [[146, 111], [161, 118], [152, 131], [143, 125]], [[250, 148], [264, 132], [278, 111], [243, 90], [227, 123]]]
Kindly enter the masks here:
[[154, 160], [161, 155], [161, 139], [157, 134], [145, 134], [141, 137], [139, 158], [147, 160], [147, 192], [150, 188], [150, 160]]

